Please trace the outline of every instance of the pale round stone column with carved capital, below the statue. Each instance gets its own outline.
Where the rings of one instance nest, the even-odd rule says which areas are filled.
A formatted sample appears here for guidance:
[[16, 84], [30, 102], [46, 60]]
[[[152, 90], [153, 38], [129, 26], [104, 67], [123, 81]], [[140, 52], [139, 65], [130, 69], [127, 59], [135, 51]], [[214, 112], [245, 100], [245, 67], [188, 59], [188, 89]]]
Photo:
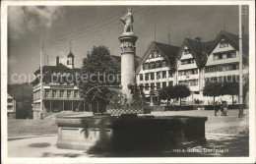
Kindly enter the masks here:
[[138, 37], [134, 34], [123, 34], [118, 37], [121, 42], [121, 85], [122, 92], [127, 95], [128, 102], [131, 102], [132, 95], [128, 84], [135, 84], [135, 42]]

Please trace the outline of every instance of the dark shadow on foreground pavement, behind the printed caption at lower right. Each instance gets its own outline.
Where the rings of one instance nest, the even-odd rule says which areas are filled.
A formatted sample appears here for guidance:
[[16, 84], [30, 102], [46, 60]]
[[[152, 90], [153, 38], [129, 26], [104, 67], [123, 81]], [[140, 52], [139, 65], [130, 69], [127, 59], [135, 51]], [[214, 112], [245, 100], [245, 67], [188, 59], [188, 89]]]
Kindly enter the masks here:
[[[90, 157], [241, 157], [249, 156], [248, 136], [209, 136], [207, 142], [195, 147], [174, 148], [156, 152], [151, 149], [130, 152], [85, 151]], [[150, 144], [150, 143], [149, 143]]]

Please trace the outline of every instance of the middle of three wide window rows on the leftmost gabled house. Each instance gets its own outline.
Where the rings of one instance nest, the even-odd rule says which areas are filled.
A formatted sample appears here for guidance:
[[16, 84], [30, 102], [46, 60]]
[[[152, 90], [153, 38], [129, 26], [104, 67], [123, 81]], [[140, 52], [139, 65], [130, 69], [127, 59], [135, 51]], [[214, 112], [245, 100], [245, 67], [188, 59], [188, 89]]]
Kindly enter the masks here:
[[149, 80], [160, 80], [160, 79], [166, 79], [166, 78], [172, 78], [173, 74], [171, 71], [168, 71], [168, 76], [166, 75], [167, 71], [159, 71], [154, 73], [146, 73], [146, 74], [140, 74], [140, 81], [149, 81]]

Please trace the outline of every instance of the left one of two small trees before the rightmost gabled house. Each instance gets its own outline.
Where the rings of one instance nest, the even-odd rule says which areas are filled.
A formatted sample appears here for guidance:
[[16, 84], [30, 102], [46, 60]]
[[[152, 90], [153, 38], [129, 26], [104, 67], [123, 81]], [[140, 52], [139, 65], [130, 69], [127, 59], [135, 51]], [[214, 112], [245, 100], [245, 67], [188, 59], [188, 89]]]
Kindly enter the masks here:
[[215, 97], [223, 94], [222, 89], [223, 89], [222, 82], [206, 82], [205, 87], [203, 89], [203, 95], [214, 96], [214, 102], [215, 102]]

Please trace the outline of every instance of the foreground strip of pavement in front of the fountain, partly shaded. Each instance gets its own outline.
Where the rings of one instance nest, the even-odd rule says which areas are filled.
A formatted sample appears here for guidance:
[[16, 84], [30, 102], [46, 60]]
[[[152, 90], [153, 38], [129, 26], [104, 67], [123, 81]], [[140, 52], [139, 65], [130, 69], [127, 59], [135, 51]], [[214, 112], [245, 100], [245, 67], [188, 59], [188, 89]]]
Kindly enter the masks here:
[[248, 156], [248, 137], [207, 136], [201, 146], [176, 148], [164, 152], [100, 153], [59, 149], [57, 136], [32, 137], [8, 141], [9, 157], [171, 157], [171, 156]]

